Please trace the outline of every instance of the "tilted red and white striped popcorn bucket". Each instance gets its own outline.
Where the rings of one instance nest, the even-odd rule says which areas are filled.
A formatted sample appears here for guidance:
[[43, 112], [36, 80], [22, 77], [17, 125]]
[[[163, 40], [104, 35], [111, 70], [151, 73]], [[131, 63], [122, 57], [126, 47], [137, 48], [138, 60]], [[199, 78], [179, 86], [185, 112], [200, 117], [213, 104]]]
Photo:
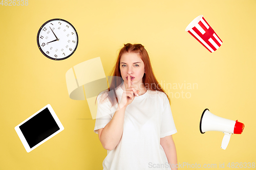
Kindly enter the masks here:
[[199, 15], [190, 22], [185, 31], [196, 38], [211, 53], [215, 52], [222, 44], [222, 40], [203, 15]]

